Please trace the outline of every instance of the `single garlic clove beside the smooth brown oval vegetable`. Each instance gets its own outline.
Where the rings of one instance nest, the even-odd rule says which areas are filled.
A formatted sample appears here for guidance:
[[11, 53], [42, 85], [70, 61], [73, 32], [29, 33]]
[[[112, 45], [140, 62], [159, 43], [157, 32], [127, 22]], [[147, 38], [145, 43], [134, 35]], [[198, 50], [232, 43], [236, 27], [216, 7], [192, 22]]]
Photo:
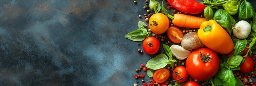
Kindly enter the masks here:
[[183, 60], [188, 58], [190, 51], [184, 49], [183, 47], [179, 46], [179, 45], [175, 45], [173, 44], [171, 47], [171, 52], [173, 54], [174, 57], [176, 57], [177, 59]]

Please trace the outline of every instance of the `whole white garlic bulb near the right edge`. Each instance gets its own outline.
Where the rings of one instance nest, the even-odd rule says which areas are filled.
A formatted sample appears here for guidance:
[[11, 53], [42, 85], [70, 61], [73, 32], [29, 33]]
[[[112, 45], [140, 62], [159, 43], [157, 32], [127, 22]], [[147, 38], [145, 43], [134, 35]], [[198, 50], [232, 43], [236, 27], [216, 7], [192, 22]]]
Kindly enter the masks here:
[[245, 20], [241, 20], [234, 25], [232, 30], [234, 36], [238, 39], [246, 39], [248, 35], [251, 33], [252, 27]]

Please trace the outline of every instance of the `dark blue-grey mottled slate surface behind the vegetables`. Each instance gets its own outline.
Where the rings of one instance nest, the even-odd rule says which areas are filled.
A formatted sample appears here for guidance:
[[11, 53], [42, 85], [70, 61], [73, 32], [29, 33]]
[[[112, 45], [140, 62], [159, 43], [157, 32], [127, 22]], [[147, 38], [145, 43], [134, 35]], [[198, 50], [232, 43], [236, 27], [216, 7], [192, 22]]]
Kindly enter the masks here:
[[132, 86], [141, 73], [148, 83], [135, 69], [164, 50], [140, 54], [142, 46], [124, 38], [145, 22], [145, 4], [0, 0], [0, 86]]

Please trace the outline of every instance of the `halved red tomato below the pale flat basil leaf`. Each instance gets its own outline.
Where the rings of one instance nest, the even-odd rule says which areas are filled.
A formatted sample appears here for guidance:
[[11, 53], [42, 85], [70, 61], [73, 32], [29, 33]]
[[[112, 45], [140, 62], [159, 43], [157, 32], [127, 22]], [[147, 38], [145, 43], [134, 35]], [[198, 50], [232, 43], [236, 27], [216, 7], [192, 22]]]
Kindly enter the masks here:
[[169, 79], [170, 75], [171, 73], [168, 69], [158, 69], [153, 75], [153, 81], [156, 81], [157, 83], [163, 83]]

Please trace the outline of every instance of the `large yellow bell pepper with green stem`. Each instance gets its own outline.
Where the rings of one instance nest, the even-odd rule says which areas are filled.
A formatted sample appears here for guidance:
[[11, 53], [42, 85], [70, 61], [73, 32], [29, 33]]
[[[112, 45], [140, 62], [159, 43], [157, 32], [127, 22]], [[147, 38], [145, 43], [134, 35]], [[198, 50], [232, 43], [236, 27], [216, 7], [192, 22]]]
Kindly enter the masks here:
[[231, 37], [215, 20], [203, 22], [197, 34], [202, 43], [215, 52], [228, 54], [234, 49]]

